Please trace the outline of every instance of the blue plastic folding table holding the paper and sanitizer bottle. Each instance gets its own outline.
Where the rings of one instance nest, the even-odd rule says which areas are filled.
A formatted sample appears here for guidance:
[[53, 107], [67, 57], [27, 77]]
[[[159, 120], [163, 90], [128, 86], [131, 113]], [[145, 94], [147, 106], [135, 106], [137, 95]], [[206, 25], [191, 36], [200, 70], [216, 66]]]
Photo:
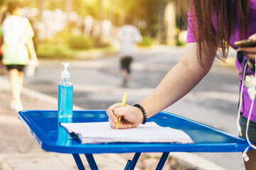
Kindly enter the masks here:
[[172, 113], [161, 112], [148, 121], [158, 125], [176, 128], [186, 132], [193, 144], [177, 143], [108, 143], [81, 145], [70, 137], [60, 125], [63, 123], [106, 122], [106, 111], [73, 111], [73, 118], [58, 119], [57, 111], [21, 111], [18, 118], [26, 126], [42, 149], [49, 152], [73, 154], [78, 169], [85, 169], [79, 154], [85, 154], [91, 169], [98, 169], [92, 154], [134, 152], [132, 161], [124, 169], [134, 169], [142, 152], [162, 152], [156, 169], [162, 169], [169, 152], [243, 152], [248, 144], [246, 140], [230, 135], [207, 125], [188, 120]]

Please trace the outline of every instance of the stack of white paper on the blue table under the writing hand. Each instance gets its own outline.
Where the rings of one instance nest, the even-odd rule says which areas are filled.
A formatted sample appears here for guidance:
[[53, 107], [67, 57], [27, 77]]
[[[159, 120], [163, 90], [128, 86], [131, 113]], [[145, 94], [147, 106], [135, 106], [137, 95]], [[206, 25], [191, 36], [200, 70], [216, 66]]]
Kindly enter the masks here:
[[107, 142], [177, 142], [193, 143], [182, 130], [164, 128], [156, 123], [146, 123], [138, 128], [116, 130], [110, 123], [60, 123], [69, 133], [75, 133], [82, 144]]

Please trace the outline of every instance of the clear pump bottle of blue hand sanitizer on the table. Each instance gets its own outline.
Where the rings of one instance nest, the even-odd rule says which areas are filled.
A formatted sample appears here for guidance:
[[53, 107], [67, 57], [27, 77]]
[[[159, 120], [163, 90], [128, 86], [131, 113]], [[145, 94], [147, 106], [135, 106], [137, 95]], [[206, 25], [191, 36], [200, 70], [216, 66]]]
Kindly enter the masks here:
[[73, 115], [73, 85], [68, 72], [69, 63], [62, 63], [64, 71], [58, 84], [58, 118], [72, 118]]

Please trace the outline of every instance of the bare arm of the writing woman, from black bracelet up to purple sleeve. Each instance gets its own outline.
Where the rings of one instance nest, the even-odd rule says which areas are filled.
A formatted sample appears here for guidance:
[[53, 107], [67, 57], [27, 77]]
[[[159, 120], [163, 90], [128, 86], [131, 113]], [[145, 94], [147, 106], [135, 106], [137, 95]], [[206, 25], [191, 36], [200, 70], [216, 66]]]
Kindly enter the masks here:
[[159, 111], [171, 106], [171, 104], [185, 96], [210, 70], [215, 55], [204, 64], [205, 68], [203, 68], [198, 63], [196, 52], [193, 52], [193, 46], [195, 45], [190, 46], [186, 47], [183, 59], [166, 74], [159, 86], [142, 101], [141, 105], [148, 117], [159, 113]]

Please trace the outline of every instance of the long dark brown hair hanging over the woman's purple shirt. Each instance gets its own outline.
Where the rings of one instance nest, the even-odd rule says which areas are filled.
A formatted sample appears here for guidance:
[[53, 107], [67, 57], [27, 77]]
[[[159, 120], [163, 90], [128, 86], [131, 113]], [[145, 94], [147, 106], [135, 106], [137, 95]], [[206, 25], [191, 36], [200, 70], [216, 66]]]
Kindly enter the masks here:
[[[185, 15], [188, 9], [184, 7], [184, 1], [181, 4], [176, 1], [178, 15]], [[196, 38], [198, 42], [198, 61], [202, 64], [202, 52], [206, 52], [206, 45], [210, 49], [219, 47], [222, 56], [220, 60], [225, 60], [228, 57], [228, 47], [230, 45], [230, 37], [233, 36], [235, 17], [238, 16], [240, 39], [245, 39], [247, 36], [248, 24], [248, 5], [249, 0], [187, 0], [187, 6], [195, 13], [198, 31]], [[213, 13], [216, 16], [217, 28], [213, 31], [212, 18]], [[187, 15], [186, 15], [187, 16]], [[196, 26], [195, 26], [196, 27]], [[210, 54], [210, 52], [206, 52]]]

